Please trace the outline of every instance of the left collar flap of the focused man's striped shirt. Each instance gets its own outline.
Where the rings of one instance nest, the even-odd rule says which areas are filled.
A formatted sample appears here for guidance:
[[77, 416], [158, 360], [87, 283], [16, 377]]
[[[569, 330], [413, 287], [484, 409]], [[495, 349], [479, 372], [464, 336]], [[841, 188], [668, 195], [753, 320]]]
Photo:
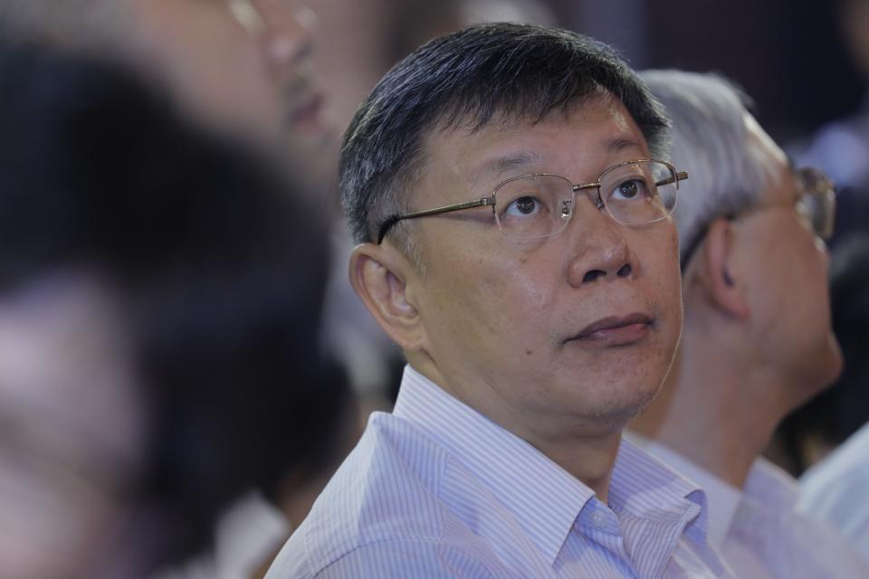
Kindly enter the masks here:
[[443, 445], [511, 511], [549, 564], [555, 563], [594, 491], [410, 365], [393, 414], [414, 422]]

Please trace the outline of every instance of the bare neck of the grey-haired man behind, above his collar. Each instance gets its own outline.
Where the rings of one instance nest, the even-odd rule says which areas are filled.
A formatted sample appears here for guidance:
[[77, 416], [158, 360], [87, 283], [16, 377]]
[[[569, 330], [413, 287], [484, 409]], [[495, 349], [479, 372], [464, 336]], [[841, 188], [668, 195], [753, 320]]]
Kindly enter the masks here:
[[742, 489], [789, 411], [782, 382], [750, 352], [686, 325], [661, 394], [631, 427]]

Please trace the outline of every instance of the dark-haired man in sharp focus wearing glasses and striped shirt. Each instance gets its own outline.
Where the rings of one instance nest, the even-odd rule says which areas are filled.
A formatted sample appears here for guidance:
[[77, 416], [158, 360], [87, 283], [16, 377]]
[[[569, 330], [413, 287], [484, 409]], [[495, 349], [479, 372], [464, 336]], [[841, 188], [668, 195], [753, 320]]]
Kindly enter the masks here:
[[685, 176], [640, 160], [666, 126], [608, 47], [531, 25], [378, 83], [342, 153], [349, 271], [408, 365], [269, 577], [729, 573], [702, 491], [621, 444], [682, 322]]

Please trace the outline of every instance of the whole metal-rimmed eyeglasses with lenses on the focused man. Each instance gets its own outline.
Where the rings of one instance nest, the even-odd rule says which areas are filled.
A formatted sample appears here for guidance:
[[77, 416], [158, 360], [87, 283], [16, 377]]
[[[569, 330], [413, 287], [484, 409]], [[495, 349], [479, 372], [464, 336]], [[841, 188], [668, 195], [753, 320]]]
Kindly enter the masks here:
[[494, 223], [511, 238], [549, 237], [568, 226], [579, 192], [585, 192], [597, 209], [606, 209], [617, 223], [654, 223], [673, 213], [679, 182], [687, 178], [686, 172], [655, 159], [607, 167], [592, 183], [574, 184], [567, 177], [548, 173], [512, 177], [497, 185], [490, 197], [392, 215], [380, 226], [377, 243], [400, 221], [484, 206], [492, 207]]

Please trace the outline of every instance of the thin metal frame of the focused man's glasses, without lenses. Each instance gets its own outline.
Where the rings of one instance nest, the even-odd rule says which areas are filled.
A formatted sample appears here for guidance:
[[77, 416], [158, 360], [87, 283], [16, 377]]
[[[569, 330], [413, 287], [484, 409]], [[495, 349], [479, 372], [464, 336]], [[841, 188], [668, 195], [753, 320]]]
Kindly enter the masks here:
[[[454, 211], [463, 211], [464, 209], [473, 209], [473, 207], [485, 207], [485, 206], [490, 206], [490, 205], [492, 206], [492, 214], [495, 214], [495, 194], [498, 192], [498, 190], [503, 185], [507, 185], [508, 183], [511, 183], [511, 181], [516, 181], [517, 179], [524, 179], [526, 177], [541, 177], [541, 176], [559, 177], [561, 179], [564, 179], [568, 183], [571, 183], [571, 187], [573, 188], [574, 195], [576, 195], [580, 191], [587, 191], [587, 190], [591, 190], [591, 189], [596, 189], [597, 190], [597, 198], [593, 199], [593, 201], [595, 202], [597, 209], [602, 209], [602, 208], [606, 207], [606, 204], [604, 203], [603, 197], [600, 195], [601, 181], [603, 180], [604, 176], [606, 176], [607, 173], [609, 173], [611, 171], [615, 171], [616, 169], [618, 169], [620, 167], [627, 166], [627, 165], [634, 165], [635, 163], [661, 163], [662, 165], [668, 166], [670, 168], [670, 172], [673, 175], [673, 181], [667, 179], [667, 180], [658, 182], [655, 185], [671, 185], [674, 182], [676, 185], [676, 189], [678, 190], [679, 189], [679, 182], [684, 181], [685, 179], [688, 178], [687, 171], [677, 171], [676, 167], [674, 167], [672, 164], [667, 163], [666, 161], [662, 161], [660, 159], [635, 159], [634, 161], [625, 161], [623, 163], [618, 163], [618, 164], [613, 165], [613, 166], [608, 166], [608, 167], [606, 167], [606, 169], [604, 169], [603, 171], [600, 172], [599, 176], [597, 176], [597, 181], [593, 181], [593, 182], [589, 182], [589, 183], [573, 184], [573, 183], [571, 183], [570, 179], [568, 179], [567, 177], [555, 175], [553, 173], [530, 173], [528, 175], [515, 176], [515, 177], [511, 177], [509, 179], [505, 179], [504, 181], [501, 181], [501, 183], [499, 183], [498, 185], [495, 185], [495, 187], [492, 189], [492, 195], [490, 195], [488, 197], [481, 197], [479, 199], [475, 199], [473, 201], [466, 201], [464, 203], [444, 205], [442, 207], [433, 207], [432, 209], [424, 209], [422, 211], [415, 211], [415, 212], [409, 213], [409, 214], [390, 215], [387, 218], [387, 220], [384, 221], [380, 225], [380, 229], [377, 232], [377, 244], [379, 245], [380, 243], [383, 242], [384, 237], [386, 237], [389, 230], [392, 229], [392, 227], [396, 223], [398, 223], [400, 221], [405, 221], [407, 219], [417, 219], [419, 217], [428, 217], [429, 215], [448, 214], [448, 213], [452, 213]], [[671, 213], [672, 212], [673, 212], [673, 210], [671, 209]], [[609, 214], [608, 211], [607, 211], [607, 214]], [[571, 213], [570, 216], [572, 217], [573, 214]], [[614, 221], [616, 221], [616, 223], [621, 223], [618, 220], [616, 220], [616, 218], [613, 217], [612, 214], [609, 214], [609, 216]], [[661, 217], [661, 219], [664, 219], [664, 218], [666, 218], [666, 215]], [[644, 222], [644, 223], [655, 223], [657, 221], [660, 221], [661, 219], [656, 219], [654, 221]], [[627, 224], [627, 223], [625, 223], [625, 224]], [[634, 224], [638, 225], [641, 223], [634, 223]], [[556, 232], [556, 233], [550, 233], [549, 235], [555, 235], [557, 233], [560, 233], [560, 231], [563, 231], [563, 230], [559, 230], [559, 232]], [[549, 237], [549, 235], [546, 235], [544, 237]]]

